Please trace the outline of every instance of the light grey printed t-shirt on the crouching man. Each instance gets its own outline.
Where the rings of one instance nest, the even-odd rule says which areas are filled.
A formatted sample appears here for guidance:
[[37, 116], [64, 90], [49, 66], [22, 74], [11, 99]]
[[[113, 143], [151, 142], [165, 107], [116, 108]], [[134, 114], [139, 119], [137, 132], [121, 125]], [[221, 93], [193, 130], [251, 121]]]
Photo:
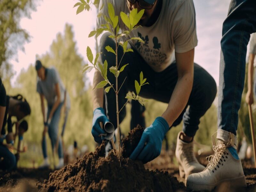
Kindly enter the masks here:
[[[126, 0], [101, 0], [99, 13], [108, 16], [108, 2], [114, 5], [115, 14], [119, 16], [119, 26], [127, 30], [121, 21], [120, 12], [129, 13]], [[104, 24], [103, 17], [97, 19], [96, 28]], [[145, 44], [132, 41], [135, 48], [148, 65], [156, 72], [167, 68], [177, 53], [188, 52], [197, 45], [196, 14], [193, 0], [163, 0], [162, 10], [156, 22], [150, 27], [140, 27], [132, 31], [130, 37], [140, 37]]]

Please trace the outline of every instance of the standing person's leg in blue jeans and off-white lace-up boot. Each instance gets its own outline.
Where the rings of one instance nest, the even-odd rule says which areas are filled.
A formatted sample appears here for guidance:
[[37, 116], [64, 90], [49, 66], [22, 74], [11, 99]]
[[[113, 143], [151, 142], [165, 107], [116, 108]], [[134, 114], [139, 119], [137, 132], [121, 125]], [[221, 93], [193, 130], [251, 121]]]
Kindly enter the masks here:
[[250, 34], [256, 32], [255, 0], [232, 0], [223, 23], [220, 53], [220, 85], [217, 143], [207, 168], [188, 176], [189, 190], [211, 191], [223, 181], [231, 190], [246, 187], [241, 160], [237, 155], [238, 110], [244, 89], [245, 58]]

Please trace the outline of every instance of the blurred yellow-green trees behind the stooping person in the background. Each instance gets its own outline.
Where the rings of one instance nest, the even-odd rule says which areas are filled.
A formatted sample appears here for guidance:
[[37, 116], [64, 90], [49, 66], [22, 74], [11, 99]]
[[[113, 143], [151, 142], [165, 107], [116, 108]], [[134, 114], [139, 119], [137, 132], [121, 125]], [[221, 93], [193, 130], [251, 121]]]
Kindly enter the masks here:
[[[44, 66], [54, 66], [57, 69], [70, 96], [71, 109], [63, 137], [65, 146], [73, 144], [76, 140], [79, 147], [86, 144], [90, 151], [94, 150], [95, 142], [91, 136], [92, 88], [87, 86], [86, 76], [81, 73], [81, 68], [86, 64], [81, 55], [77, 53], [72, 27], [66, 25], [64, 34], [57, 34], [56, 39], [52, 42], [50, 52], [46, 52], [37, 59], [40, 59]], [[28, 132], [24, 134], [24, 142], [28, 144], [28, 152], [21, 154], [21, 162], [31, 162], [32, 156], [35, 156], [36, 162], [43, 159], [41, 140], [44, 125], [40, 96], [36, 92], [36, 79], [35, 65], [31, 64], [28, 70], [21, 71], [15, 87], [8, 84], [9, 79], [3, 81], [7, 94], [21, 93], [31, 107], [31, 115], [26, 118], [29, 126]], [[47, 110], [46, 102], [45, 109]], [[61, 116], [59, 124], [59, 134], [62, 129], [63, 117], [64, 115]], [[48, 136], [47, 142], [48, 154], [51, 158], [52, 151]], [[38, 150], [34, 151], [32, 146]]]

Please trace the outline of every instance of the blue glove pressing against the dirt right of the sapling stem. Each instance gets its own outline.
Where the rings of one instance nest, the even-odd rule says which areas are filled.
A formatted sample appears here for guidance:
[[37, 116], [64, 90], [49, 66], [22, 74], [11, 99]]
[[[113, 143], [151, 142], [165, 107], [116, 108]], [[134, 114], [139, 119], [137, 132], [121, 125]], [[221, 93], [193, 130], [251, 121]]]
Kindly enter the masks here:
[[167, 121], [163, 117], [156, 117], [153, 124], [144, 130], [140, 142], [130, 158], [140, 160], [144, 164], [155, 159], [160, 155], [164, 135], [168, 130], [169, 124]]

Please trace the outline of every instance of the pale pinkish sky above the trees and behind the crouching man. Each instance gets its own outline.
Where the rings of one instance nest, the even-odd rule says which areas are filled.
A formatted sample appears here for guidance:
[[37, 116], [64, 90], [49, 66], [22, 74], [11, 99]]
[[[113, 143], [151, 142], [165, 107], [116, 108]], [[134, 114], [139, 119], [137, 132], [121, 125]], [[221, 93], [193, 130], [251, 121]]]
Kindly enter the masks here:
[[[95, 26], [96, 9], [76, 15], [76, 8], [73, 8], [76, 2], [78, 0], [44, 0], [37, 7], [37, 12], [32, 12], [31, 19], [21, 19], [21, 27], [26, 29], [32, 37], [30, 43], [24, 46], [25, 53], [18, 52], [19, 62], [11, 61], [16, 73], [12, 84], [22, 68], [27, 69], [29, 64], [35, 63], [36, 54], [42, 55], [49, 51], [56, 34], [63, 33], [66, 23], [73, 26], [78, 52], [87, 61], [86, 47], [90, 46], [92, 51], [95, 50], [95, 39], [88, 38], [88, 34]], [[227, 16], [229, 2], [230, 0], [194, 0], [198, 38], [195, 62], [205, 68], [217, 84], [219, 84], [222, 23]], [[87, 76], [92, 82], [93, 72]]]

